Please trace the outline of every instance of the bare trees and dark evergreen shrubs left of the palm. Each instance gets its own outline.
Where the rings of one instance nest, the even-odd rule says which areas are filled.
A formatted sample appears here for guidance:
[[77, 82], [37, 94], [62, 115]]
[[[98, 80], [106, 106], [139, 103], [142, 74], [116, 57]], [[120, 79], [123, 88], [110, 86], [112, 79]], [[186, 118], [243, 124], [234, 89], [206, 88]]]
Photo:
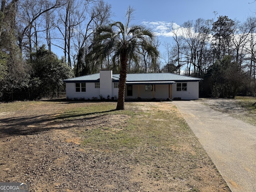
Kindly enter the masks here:
[[[95, 63], [82, 65], [83, 56], [96, 27], [109, 22], [109, 4], [103, 0], [0, 3], [0, 100], [10, 99], [11, 92], [26, 92], [30, 99], [49, 96], [63, 90], [62, 80], [74, 73], [97, 71]], [[52, 52], [53, 46], [63, 51], [61, 59]]]

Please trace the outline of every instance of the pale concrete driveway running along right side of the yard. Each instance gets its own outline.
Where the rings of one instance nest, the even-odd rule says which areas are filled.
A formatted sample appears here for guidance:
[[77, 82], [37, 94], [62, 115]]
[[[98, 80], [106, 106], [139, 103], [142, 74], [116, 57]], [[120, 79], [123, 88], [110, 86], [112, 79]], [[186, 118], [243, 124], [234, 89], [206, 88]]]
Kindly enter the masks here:
[[174, 104], [230, 190], [255, 192], [256, 126], [194, 101], [174, 101]]

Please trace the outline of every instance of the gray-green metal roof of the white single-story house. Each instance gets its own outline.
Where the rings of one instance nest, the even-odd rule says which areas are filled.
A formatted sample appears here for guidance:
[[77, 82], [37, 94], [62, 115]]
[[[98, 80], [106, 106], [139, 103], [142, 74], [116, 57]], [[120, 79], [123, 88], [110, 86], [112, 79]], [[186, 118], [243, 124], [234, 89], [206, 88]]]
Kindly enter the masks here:
[[[119, 81], [119, 74], [113, 74], [112, 80]], [[100, 73], [86, 75], [86, 76], [80, 76], [70, 79], [63, 80], [64, 82], [99, 82], [100, 80]], [[131, 84], [133, 83], [139, 83], [139, 82], [148, 82], [148, 83], [175, 83], [175, 82], [181, 82], [181, 81], [200, 81], [202, 79], [190, 77], [190, 76], [184, 76], [184, 75], [178, 75], [173, 73], [134, 73], [134, 74], [127, 74], [126, 77], [126, 83]]]

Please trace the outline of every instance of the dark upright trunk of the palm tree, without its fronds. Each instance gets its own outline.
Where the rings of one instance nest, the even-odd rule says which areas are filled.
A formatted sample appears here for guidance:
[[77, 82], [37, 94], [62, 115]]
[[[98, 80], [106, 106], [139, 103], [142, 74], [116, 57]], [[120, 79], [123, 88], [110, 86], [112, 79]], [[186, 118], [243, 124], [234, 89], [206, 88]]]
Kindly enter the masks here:
[[125, 83], [126, 83], [126, 76], [127, 76], [127, 57], [126, 51], [123, 50], [120, 54], [120, 78], [119, 78], [119, 85], [118, 85], [118, 100], [116, 110], [124, 110], [124, 93], [125, 93]]

